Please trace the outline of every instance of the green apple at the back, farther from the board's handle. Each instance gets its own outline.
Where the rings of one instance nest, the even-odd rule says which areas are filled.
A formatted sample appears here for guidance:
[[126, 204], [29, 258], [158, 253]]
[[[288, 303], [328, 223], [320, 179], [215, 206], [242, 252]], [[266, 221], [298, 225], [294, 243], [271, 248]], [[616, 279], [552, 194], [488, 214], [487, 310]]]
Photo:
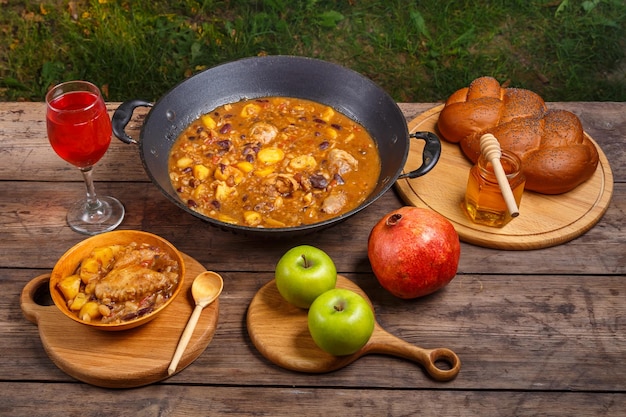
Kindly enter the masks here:
[[309, 308], [320, 294], [335, 288], [337, 268], [323, 250], [301, 245], [289, 249], [276, 265], [276, 286], [283, 298]]

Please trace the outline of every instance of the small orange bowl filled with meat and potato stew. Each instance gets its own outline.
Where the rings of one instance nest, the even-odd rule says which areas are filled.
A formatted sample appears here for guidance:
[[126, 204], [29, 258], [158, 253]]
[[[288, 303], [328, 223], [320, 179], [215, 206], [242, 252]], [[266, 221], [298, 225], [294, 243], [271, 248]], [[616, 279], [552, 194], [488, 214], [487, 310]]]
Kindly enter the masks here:
[[181, 253], [138, 230], [92, 236], [69, 249], [50, 275], [54, 304], [70, 319], [101, 330], [126, 330], [163, 312], [180, 293]]

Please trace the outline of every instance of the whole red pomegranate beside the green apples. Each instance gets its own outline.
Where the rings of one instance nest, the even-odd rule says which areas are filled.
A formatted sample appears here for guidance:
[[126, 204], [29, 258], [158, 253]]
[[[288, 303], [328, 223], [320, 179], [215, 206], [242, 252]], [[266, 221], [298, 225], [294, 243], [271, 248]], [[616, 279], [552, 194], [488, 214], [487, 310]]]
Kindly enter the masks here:
[[380, 285], [410, 299], [433, 293], [454, 278], [461, 244], [452, 223], [439, 213], [402, 207], [372, 228], [367, 255]]

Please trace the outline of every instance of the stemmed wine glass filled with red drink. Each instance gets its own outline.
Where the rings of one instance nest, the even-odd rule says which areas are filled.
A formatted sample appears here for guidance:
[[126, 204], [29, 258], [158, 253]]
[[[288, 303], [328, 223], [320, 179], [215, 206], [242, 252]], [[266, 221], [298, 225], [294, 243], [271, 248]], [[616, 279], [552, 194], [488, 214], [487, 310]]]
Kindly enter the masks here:
[[83, 173], [85, 199], [67, 213], [71, 229], [96, 235], [115, 229], [124, 219], [124, 206], [113, 197], [98, 197], [93, 166], [111, 143], [111, 120], [98, 87], [87, 81], [68, 81], [46, 94], [48, 139], [54, 151]]

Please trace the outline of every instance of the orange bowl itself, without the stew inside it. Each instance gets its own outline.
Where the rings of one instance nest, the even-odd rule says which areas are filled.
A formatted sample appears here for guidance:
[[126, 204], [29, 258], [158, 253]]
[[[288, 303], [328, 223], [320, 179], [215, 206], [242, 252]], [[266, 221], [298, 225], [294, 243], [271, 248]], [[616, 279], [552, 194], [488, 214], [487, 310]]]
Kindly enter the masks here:
[[[59, 281], [69, 275], [74, 274], [81, 261], [87, 258], [94, 248], [109, 245], [129, 245], [133, 242], [137, 244], [147, 243], [152, 246], [157, 246], [165, 250], [172, 257], [172, 259], [178, 262], [180, 276], [178, 279], [178, 284], [174, 289], [172, 296], [163, 305], [161, 305], [150, 314], [146, 314], [133, 320], [124, 321], [122, 323], [87, 322], [78, 318], [76, 314], [70, 311], [69, 307], [67, 306], [65, 297], [63, 296], [63, 293], [57, 287]], [[83, 240], [82, 242], [79, 242], [67, 252], [65, 252], [63, 256], [61, 256], [61, 258], [57, 261], [50, 275], [50, 295], [52, 296], [52, 300], [54, 301], [54, 304], [59, 308], [59, 310], [61, 310], [61, 312], [67, 317], [78, 323], [99, 330], [126, 330], [148, 323], [149, 321], [156, 318], [157, 315], [161, 314], [167, 308], [167, 306], [169, 306], [172, 301], [174, 301], [174, 299], [179, 295], [180, 290], [183, 287], [184, 276], [185, 262], [183, 261], [182, 254], [170, 242], [148, 232], [142, 232], [138, 230], [117, 230], [92, 236], [88, 239]]]

